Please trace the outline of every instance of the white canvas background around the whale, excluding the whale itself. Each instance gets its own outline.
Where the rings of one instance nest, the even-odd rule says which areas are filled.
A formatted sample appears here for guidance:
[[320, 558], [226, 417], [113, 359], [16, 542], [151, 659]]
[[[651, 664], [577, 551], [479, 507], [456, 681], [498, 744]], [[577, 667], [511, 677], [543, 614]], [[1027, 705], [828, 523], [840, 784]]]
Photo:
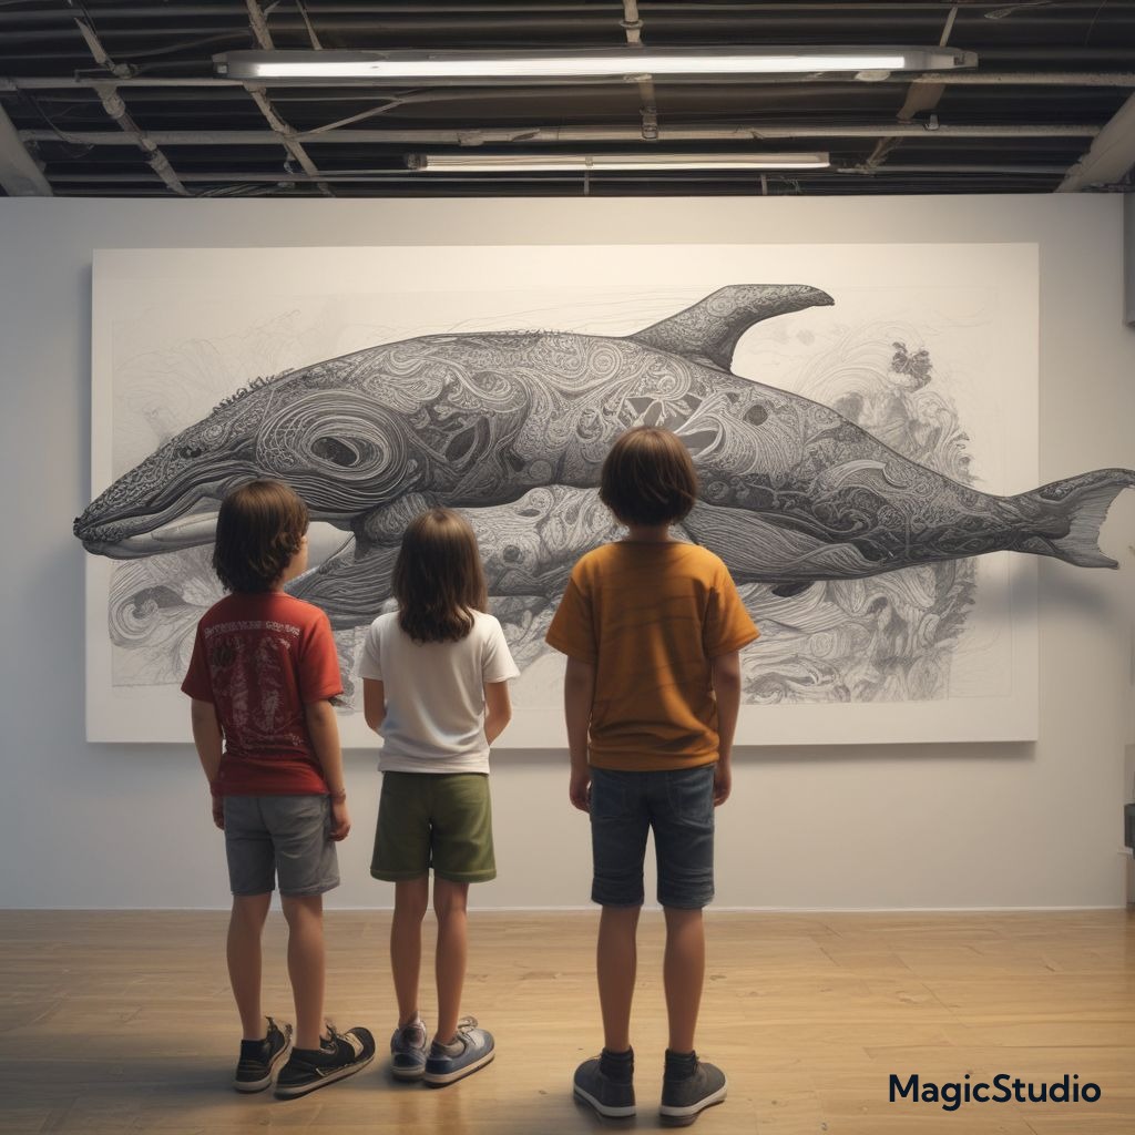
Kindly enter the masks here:
[[[892, 447], [984, 493], [1036, 487], [1034, 245], [229, 249], [96, 254], [92, 496], [259, 377], [442, 333], [628, 336], [735, 284], [807, 284], [834, 302], [755, 326], [734, 375], [858, 407]], [[343, 539], [314, 526], [314, 555]], [[190, 739], [185, 629], [219, 591], [208, 548], [176, 556], [176, 602], [173, 561], [87, 556], [90, 740]], [[1034, 739], [1034, 561], [955, 564], [972, 602], [948, 629], [927, 565], [789, 597], [742, 586], [763, 637], [743, 659], [738, 743]], [[133, 646], [108, 632], [116, 572], [134, 597], [116, 637]], [[562, 747], [562, 659], [537, 637], [522, 653], [498, 747]], [[358, 712], [340, 725], [346, 743], [376, 743]]]

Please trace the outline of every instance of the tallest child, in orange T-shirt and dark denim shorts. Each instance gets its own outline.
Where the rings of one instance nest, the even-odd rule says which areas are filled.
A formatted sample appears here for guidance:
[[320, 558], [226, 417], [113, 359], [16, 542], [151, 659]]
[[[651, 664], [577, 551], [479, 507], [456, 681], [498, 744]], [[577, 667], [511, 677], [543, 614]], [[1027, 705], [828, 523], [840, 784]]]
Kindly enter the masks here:
[[738, 651], [758, 632], [725, 565], [670, 536], [697, 497], [693, 465], [675, 435], [650, 427], [622, 435], [603, 464], [599, 497], [629, 533], [575, 564], [547, 633], [568, 655], [569, 794], [590, 813], [591, 899], [603, 906], [604, 1049], [575, 1070], [574, 1093], [603, 1116], [634, 1115], [634, 939], [653, 829], [670, 1022], [661, 1110], [664, 1121], [686, 1125], [725, 1099], [721, 1069], [693, 1051], [705, 973], [701, 908], [713, 898], [713, 809], [730, 790]]

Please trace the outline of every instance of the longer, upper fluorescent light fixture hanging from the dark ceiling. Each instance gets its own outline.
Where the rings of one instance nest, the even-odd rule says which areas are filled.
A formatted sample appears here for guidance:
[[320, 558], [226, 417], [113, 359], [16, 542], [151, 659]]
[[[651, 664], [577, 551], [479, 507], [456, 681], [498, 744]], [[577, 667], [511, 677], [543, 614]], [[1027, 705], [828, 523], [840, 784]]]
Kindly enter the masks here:
[[974, 67], [953, 48], [578, 48], [539, 51], [229, 51], [213, 56], [218, 75], [249, 82], [432, 84], [631, 81], [653, 75], [776, 77]]

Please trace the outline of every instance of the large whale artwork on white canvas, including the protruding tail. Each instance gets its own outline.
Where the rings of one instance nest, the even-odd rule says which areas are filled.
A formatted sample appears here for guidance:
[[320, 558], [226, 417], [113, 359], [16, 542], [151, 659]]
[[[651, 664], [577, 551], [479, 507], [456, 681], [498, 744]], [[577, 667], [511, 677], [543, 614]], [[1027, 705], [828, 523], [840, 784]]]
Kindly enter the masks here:
[[[185, 740], [177, 690], [219, 497], [291, 484], [358, 712], [398, 538], [462, 510], [523, 675], [501, 745], [564, 745], [543, 636], [617, 538], [595, 486], [623, 429], [674, 429], [763, 636], [739, 743], [1024, 740], [1035, 556], [1113, 566], [1135, 477], [1036, 486], [1032, 245], [158, 250], [94, 271], [92, 740]], [[1071, 570], [1071, 569], [1069, 569]]]

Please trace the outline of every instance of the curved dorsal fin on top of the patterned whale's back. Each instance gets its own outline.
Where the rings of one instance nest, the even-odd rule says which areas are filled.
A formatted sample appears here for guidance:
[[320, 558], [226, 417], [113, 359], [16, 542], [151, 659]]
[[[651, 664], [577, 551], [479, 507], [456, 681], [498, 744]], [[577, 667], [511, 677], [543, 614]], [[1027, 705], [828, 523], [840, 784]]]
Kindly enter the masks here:
[[807, 284], [730, 284], [676, 316], [627, 337], [671, 354], [708, 359], [729, 370], [738, 339], [754, 323], [834, 302], [826, 292]]

